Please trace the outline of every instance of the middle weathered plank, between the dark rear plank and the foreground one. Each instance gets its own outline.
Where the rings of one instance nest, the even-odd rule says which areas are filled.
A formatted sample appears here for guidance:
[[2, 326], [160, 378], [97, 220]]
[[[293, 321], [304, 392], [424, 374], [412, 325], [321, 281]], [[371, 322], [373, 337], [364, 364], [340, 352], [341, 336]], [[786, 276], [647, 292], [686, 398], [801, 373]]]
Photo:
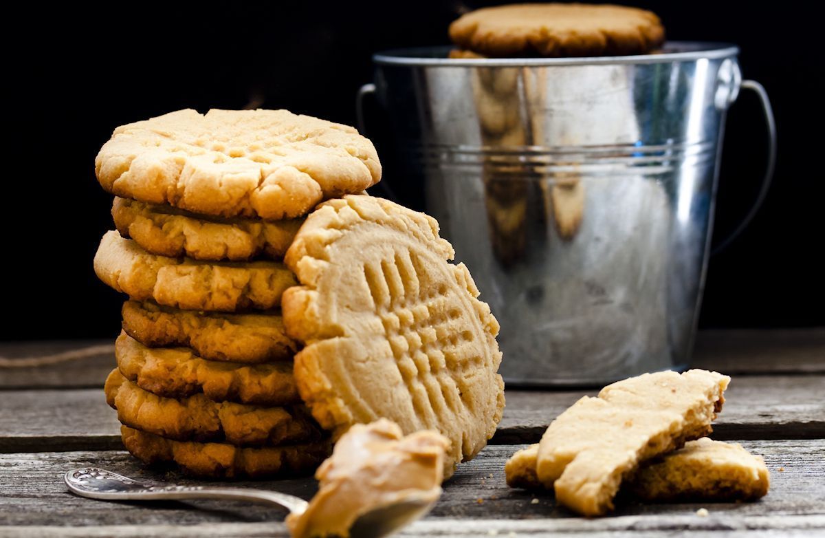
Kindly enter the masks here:
[[[714, 425], [719, 439], [825, 437], [825, 375], [740, 376]], [[493, 444], [535, 442], [582, 394], [507, 390]], [[120, 447], [120, 425], [101, 389], [0, 392], [0, 452], [107, 450]]]

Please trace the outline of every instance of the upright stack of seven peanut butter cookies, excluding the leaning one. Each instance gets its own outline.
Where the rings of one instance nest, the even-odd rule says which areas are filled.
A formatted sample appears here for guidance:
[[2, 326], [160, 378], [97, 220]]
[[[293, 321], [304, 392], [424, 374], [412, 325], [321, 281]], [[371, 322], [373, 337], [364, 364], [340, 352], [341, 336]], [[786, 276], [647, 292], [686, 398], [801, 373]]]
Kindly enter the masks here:
[[141, 460], [233, 476], [314, 469], [282, 263], [318, 202], [380, 180], [356, 130], [288, 111], [177, 111], [117, 128], [96, 159], [117, 231], [95, 257], [126, 295], [106, 399]]

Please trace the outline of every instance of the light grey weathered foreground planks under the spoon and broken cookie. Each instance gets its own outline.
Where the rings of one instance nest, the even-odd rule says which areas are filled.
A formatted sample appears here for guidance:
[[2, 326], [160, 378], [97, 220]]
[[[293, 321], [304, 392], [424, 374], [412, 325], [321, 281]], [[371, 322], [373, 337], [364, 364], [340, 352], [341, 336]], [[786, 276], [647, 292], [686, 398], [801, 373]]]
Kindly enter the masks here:
[[[531, 536], [548, 531], [555, 534], [825, 529], [825, 441], [742, 441], [742, 445], [762, 455], [771, 470], [771, 493], [760, 502], [654, 505], [623, 498], [612, 517], [596, 520], [575, 517], [556, 507], [551, 493], [507, 488], [504, 461], [520, 446], [488, 446], [475, 460], [460, 466], [455, 477], [445, 484], [445, 493], [427, 521], [411, 528], [406, 535], [483, 536], [489, 530], [502, 536], [510, 531]], [[192, 534], [191, 525], [209, 524], [212, 530], [204, 536], [257, 536], [266, 532], [286, 536], [283, 526], [277, 523], [283, 512], [269, 507], [224, 501], [101, 503], [75, 497], [66, 491], [62, 474], [83, 465], [97, 465], [148, 482], [196, 483], [177, 473], [147, 469], [122, 451], [0, 455], [0, 535], [9, 533], [2, 526], [60, 525], [96, 527], [85, 529], [86, 535], [75, 529], [70, 536], [130, 536], [138, 531], [143, 536], [159, 536], [162, 532], [179, 536], [180, 528], [168, 526], [186, 526]], [[778, 471], [780, 467], [782, 472]], [[312, 479], [233, 485], [277, 489], [304, 498], [315, 490]], [[699, 507], [706, 507], [710, 517], [697, 517], [695, 511]], [[242, 522], [258, 525], [240, 525]], [[37, 527], [36, 534], [48, 534], [46, 531]], [[54, 529], [50, 532], [58, 533]]]

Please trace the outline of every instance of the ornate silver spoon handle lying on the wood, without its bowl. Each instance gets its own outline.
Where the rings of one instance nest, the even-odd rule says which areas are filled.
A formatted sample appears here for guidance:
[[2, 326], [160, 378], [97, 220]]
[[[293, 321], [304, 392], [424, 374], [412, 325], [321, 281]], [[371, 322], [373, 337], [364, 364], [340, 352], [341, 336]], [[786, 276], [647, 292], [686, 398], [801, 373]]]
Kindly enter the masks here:
[[97, 467], [70, 470], [64, 476], [69, 491], [81, 497], [110, 501], [158, 501], [194, 498], [233, 499], [252, 503], [276, 504], [292, 513], [304, 512], [302, 498], [276, 491], [252, 488], [212, 488], [208, 486], [147, 486], [121, 474]]

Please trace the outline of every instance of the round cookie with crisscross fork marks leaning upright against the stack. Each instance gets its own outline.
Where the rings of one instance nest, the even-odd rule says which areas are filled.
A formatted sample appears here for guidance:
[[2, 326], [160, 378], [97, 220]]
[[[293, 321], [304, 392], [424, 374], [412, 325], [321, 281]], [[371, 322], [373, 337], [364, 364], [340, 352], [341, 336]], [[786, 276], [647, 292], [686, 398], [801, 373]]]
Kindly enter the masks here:
[[498, 323], [469, 271], [446, 262], [435, 219], [381, 198], [319, 206], [285, 262], [303, 286], [284, 294], [301, 398], [339, 436], [389, 418], [452, 446], [446, 472], [493, 436], [504, 407]]

